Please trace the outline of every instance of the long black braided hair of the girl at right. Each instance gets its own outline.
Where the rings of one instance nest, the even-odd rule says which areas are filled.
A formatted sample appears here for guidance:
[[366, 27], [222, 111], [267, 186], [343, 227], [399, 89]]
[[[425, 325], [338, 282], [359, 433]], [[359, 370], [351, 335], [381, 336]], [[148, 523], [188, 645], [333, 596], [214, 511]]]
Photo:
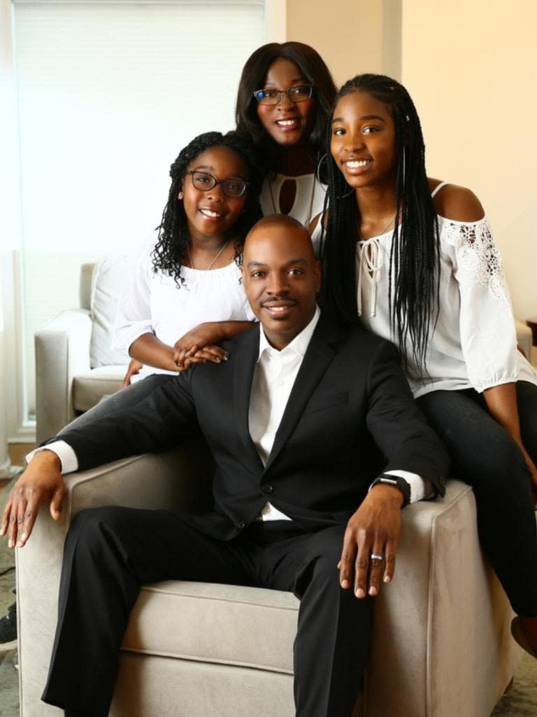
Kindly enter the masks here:
[[[357, 75], [348, 80], [334, 103], [352, 92], [367, 92], [390, 108], [395, 124], [395, 229], [390, 250], [390, 323], [405, 368], [407, 341], [412, 363], [426, 370], [427, 343], [438, 315], [440, 239], [437, 214], [425, 172], [425, 144], [420, 118], [405, 87], [385, 75]], [[326, 231], [321, 232], [324, 307], [344, 323], [359, 322], [356, 245], [360, 217], [356, 194], [330, 153], [332, 128], [326, 128], [328, 190]], [[327, 212], [327, 214], [326, 214]]]

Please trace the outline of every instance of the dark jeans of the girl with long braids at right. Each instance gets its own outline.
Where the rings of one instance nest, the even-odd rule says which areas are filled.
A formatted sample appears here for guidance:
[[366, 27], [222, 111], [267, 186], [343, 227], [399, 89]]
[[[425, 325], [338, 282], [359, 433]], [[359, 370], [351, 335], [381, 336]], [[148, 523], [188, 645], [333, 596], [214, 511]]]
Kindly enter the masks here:
[[[516, 388], [523, 444], [537, 462], [537, 386]], [[473, 488], [481, 546], [513, 610], [537, 617], [536, 516], [521, 450], [473, 389], [432, 391], [417, 404], [448, 447], [453, 476]]]

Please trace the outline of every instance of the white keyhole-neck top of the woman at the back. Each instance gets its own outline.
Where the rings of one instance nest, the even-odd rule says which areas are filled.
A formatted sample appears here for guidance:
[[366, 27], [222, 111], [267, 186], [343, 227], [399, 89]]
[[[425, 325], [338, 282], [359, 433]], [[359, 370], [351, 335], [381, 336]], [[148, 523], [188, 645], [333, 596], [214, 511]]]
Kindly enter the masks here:
[[322, 212], [326, 186], [319, 184], [314, 174], [302, 174], [298, 177], [287, 177], [284, 174], [271, 174], [265, 177], [259, 196], [263, 215], [281, 214], [280, 192], [287, 179], [296, 182], [296, 194], [289, 217], [298, 219], [307, 227], [313, 217]]

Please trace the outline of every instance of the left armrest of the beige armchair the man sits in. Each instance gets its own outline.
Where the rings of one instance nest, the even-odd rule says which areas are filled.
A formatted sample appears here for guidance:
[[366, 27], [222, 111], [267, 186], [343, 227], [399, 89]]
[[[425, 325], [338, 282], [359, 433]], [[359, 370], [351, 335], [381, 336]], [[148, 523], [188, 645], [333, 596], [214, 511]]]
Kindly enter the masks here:
[[24, 548], [16, 550], [21, 716], [59, 717], [40, 701], [57, 619], [64, 539], [84, 508], [127, 505], [202, 511], [212, 505], [213, 462], [203, 441], [139, 455], [65, 476], [67, 497], [55, 523], [44, 505]]

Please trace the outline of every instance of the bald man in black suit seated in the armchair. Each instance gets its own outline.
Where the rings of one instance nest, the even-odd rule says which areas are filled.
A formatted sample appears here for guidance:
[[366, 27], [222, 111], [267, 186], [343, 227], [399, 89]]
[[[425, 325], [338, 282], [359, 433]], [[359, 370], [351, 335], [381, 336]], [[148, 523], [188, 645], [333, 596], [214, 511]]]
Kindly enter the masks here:
[[62, 470], [200, 432], [216, 462], [209, 515], [111, 506], [75, 518], [43, 696], [68, 717], [107, 715], [140, 584], [164, 579], [294, 592], [296, 714], [349, 717], [372, 598], [394, 574], [401, 507], [443, 493], [448, 457], [395, 348], [320, 315], [319, 262], [304, 228], [288, 217], [258, 222], [243, 282], [261, 329], [225, 343], [227, 361], [197, 364], [137, 407], [62, 433], [11, 493], [1, 533], [24, 546], [39, 503], [59, 516]]

